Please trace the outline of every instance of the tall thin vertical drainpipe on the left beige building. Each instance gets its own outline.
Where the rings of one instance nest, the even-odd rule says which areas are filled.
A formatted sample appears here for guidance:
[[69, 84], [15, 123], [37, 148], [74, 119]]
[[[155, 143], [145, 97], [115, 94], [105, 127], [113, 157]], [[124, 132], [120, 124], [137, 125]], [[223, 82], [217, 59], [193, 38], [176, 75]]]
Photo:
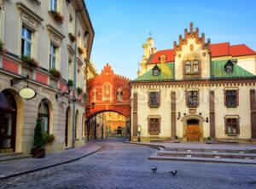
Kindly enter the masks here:
[[[76, 18], [75, 18], [75, 37], [78, 37], [78, 13], [79, 10], [76, 10]], [[75, 54], [74, 54], [74, 64], [73, 64], [73, 91], [77, 89], [77, 52], [78, 52], [78, 43], [75, 40]], [[75, 95], [73, 95], [75, 97]], [[76, 102], [73, 102], [73, 127], [72, 127], [72, 147], [75, 147], [75, 127], [76, 127]]]

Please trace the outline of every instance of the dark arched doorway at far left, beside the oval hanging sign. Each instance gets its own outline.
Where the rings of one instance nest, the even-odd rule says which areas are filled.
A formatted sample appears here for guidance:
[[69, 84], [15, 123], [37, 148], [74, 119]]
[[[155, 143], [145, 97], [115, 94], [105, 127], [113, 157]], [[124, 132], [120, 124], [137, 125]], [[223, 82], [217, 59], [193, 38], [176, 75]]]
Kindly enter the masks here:
[[0, 152], [15, 152], [17, 106], [8, 91], [0, 93]]

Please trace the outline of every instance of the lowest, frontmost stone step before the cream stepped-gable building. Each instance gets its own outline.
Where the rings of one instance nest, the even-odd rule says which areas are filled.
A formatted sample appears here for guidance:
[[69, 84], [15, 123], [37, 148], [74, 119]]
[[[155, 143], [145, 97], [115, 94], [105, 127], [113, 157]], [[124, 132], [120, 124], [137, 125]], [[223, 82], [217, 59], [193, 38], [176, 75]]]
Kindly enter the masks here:
[[172, 157], [172, 156], [150, 156], [149, 160], [167, 161], [188, 161], [188, 162], [209, 162], [209, 163], [242, 163], [256, 164], [255, 159], [236, 159], [236, 158], [201, 158], [201, 157]]

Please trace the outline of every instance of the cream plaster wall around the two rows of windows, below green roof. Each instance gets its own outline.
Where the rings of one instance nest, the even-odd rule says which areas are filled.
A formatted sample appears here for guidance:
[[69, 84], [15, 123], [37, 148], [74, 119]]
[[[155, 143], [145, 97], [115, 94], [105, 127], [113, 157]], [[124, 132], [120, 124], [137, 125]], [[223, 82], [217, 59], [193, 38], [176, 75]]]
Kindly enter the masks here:
[[[224, 106], [224, 89], [239, 89], [239, 106], [236, 108], [227, 108]], [[213, 87], [163, 87], [152, 85], [149, 89], [148, 86], [140, 87], [139, 89], [131, 89], [131, 93], [137, 92], [138, 94], [138, 111], [137, 124], [142, 126], [142, 137], [152, 137], [148, 134], [148, 119], [150, 116], [161, 117], [161, 133], [157, 137], [171, 137], [171, 91], [176, 92], [177, 104], [176, 113], [181, 112], [180, 119], [176, 119], [177, 136], [183, 137], [183, 118], [189, 119], [193, 117], [201, 117], [203, 129], [202, 135], [207, 138], [210, 135], [210, 123], [206, 122], [206, 118], [209, 115], [209, 91], [214, 90], [215, 93], [215, 129], [216, 138], [230, 138], [224, 134], [224, 116], [238, 115], [240, 117], [240, 135], [239, 139], [251, 138], [251, 118], [250, 118], [250, 89], [255, 89], [254, 86], [213, 86]], [[200, 104], [195, 109], [195, 113], [189, 113], [189, 108], [186, 106], [185, 90], [198, 90], [200, 94]], [[160, 107], [149, 108], [148, 107], [148, 92], [160, 91]], [[133, 107], [132, 107], [133, 110]], [[131, 111], [132, 111], [131, 110]], [[186, 115], [184, 115], [184, 113]], [[200, 115], [201, 114], [201, 115]], [[131, 113], [132, 115], [132, 113]], [[131, 116], [131, 120], [133, 117]], [[131, 134], [133, 129], [133, 122], [131, 121]], [[155, 135], [154, 135], [155, 136]]]

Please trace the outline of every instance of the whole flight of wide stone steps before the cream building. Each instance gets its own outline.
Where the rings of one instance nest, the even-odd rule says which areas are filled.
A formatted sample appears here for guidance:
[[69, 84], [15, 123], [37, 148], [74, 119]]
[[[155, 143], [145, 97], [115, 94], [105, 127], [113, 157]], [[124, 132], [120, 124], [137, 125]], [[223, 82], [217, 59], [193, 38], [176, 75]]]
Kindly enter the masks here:
[[192, 161], [212, 163], [256, 164], [256, 150], [206, 149], [206, 148], [160, 148], [150, 160]]

